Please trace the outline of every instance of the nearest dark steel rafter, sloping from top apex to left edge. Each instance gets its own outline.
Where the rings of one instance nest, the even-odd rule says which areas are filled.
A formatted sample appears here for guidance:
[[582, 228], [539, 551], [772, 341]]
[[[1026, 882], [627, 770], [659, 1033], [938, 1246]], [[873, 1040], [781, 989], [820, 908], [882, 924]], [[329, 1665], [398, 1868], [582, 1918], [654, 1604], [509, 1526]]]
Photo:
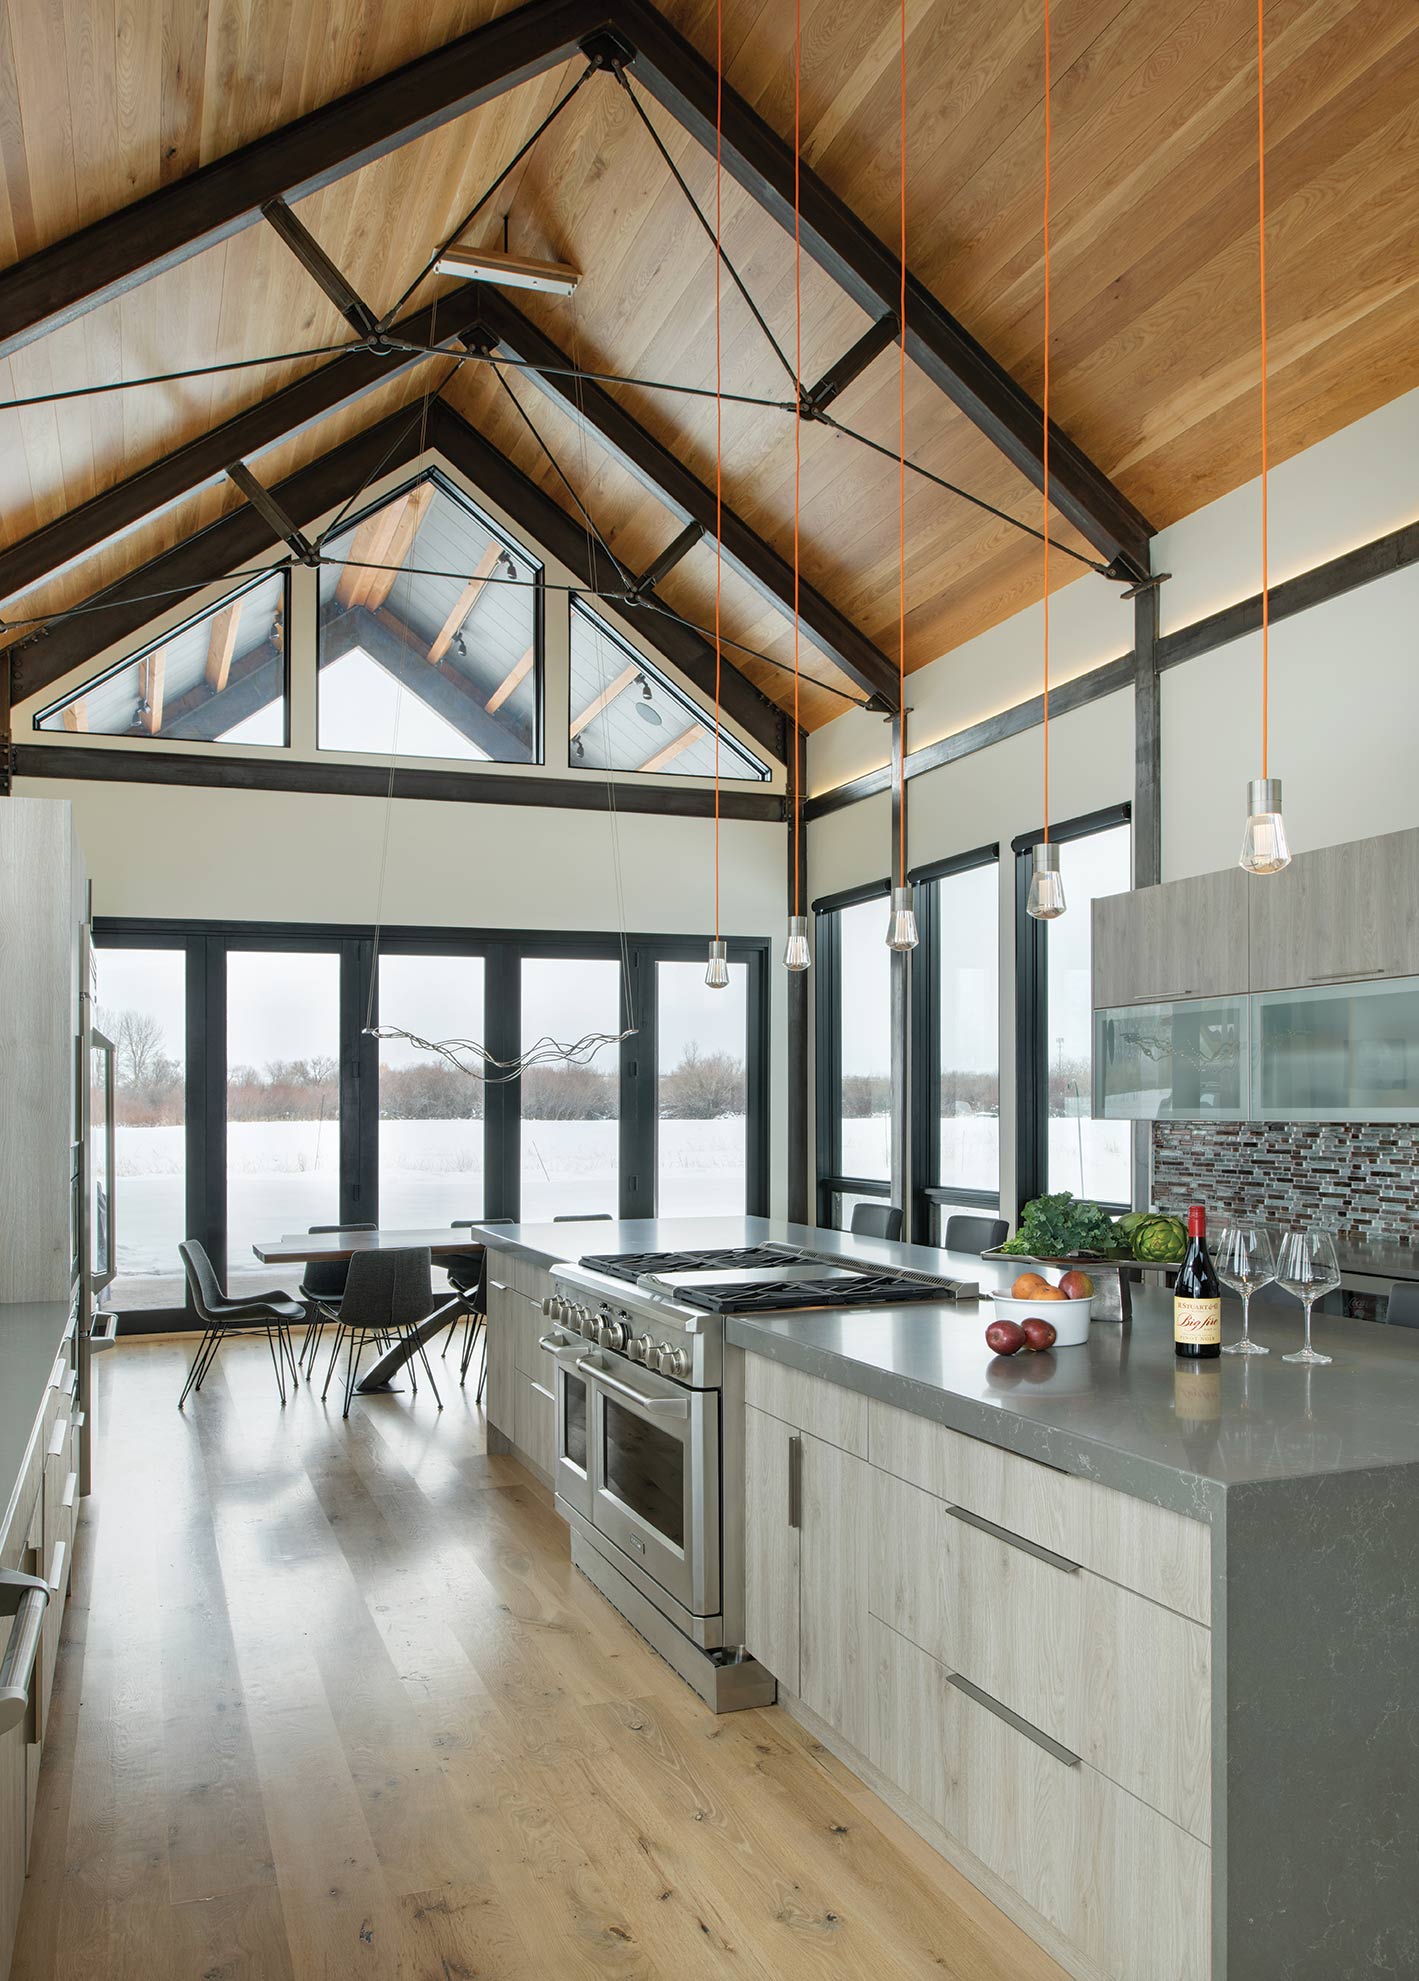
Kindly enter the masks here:
[[16, 261], [0, 273], [0, 357], [254, 226], [270, 200], [303, 200], [555, 69], [600, 20], [597, 0], [525, 0]]

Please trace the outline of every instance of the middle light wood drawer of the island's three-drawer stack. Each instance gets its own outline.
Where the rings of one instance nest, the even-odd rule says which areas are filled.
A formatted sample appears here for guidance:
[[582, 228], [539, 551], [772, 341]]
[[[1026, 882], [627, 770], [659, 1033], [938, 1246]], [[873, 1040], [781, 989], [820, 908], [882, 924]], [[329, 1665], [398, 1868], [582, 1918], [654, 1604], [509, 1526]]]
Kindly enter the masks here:
[[872, 1615], [1209, 1840], [1209, 1630], [888, 1472], [872, 1474]]

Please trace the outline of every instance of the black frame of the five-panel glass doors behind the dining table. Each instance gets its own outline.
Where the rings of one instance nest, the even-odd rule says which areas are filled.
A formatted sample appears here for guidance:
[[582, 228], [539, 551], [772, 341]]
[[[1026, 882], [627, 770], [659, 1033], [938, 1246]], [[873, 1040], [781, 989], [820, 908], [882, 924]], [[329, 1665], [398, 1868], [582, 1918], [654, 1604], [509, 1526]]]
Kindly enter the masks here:
[[[379, 1220], [379, 1040], [365, 1034], [379, 994], [375, 929], [365, 923], [190, 921], [180, 917], [95, 915], [93, 941], [103, 949], [180, 949], [186, 957], [184, 1133], [186, 1236], [198, 1238], [226, 1278], [226, 959], [232, 951], [275, 949], [337, 953], [341, 1026], [341, 1220]], [[573, 933], [557, 929], [446, 929], [394, 925], [379, 931], [379, 955], [446, 955], [484, 959], [484, 1044], [497, 1058], [521, 1050], [523, 957], [622, 957], [622, 1028], [628, 998], [638, 1012], [636, 1038], [620, 1046], [620, 1187], [622, 1218], [654, 1216], [658, 1135], [656, 965], [704, 961], [708, 937], [638, 931]], [[769, 937], [727, 937], [729, 961], [747, 967], [745, 1040], [745, 1214], [769, 1208]], [[521, 1193], [519, 1082], [486, 1090], [484, 1101], [484, 1218], [517, 1222]], [[174, 1258], [174, 1274], [176, 1274]], [[190, 1307], [125, 1307], [121, 1331], [182, 1329]]]

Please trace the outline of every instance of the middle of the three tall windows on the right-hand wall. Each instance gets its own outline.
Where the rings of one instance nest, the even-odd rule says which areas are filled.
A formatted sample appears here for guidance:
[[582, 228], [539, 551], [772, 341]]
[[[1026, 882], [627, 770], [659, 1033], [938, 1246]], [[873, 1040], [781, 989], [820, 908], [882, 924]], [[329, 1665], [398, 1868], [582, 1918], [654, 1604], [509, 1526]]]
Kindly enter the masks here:
[[981, 846], [914, 876], [914, 1094], [922, 1242], [1001, 1202], [1001, 862]]

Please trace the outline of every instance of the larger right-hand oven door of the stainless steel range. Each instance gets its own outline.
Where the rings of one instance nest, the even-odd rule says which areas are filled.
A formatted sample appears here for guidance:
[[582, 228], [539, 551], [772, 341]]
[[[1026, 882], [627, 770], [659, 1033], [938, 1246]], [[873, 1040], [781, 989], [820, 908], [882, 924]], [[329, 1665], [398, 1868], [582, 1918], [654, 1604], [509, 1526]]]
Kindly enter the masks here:
[[719, 1391], [585, 1353], [591, 1519], [692, 1616], [719, 1615]]

